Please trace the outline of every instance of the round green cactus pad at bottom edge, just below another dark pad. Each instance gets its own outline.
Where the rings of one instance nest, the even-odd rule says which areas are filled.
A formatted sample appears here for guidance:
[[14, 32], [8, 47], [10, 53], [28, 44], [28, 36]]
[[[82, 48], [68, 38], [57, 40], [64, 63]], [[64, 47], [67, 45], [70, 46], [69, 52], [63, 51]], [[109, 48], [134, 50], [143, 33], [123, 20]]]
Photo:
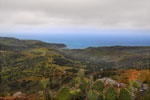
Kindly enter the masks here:
[[100, 100], [99, 94], [95, 90], [90, 90], [87, 96], [88, 100]]

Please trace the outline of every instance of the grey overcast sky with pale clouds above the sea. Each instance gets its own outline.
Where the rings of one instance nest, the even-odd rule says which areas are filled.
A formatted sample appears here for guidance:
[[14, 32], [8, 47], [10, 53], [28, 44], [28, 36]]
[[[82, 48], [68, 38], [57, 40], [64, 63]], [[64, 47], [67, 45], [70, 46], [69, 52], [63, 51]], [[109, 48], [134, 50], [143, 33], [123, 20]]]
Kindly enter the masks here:
[[150, 0], [0, 0], [0, 32], [150, 30]]

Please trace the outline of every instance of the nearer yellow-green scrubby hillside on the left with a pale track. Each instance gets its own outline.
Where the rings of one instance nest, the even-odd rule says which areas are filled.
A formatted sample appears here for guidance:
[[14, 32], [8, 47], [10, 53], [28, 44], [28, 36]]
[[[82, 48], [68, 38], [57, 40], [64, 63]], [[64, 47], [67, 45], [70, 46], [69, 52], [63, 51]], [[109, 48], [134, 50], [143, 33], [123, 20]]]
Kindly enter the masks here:
[[40, 80], [48, 77], [63, 77], [64, 71], [67, 71], [67, 76], [63, 77], [65, 80], [72, 75], [72, 71], [77, 71], [80, 67], [80, 62], [67, 59], [49, 48], [36, 48], [22, 52], [1, 50], [0, 55], [2, 58], [1, 91], [22, 89], [27, 91], [35, 90], [36, 87], [39, 87], [37, 88], [39, 90]]

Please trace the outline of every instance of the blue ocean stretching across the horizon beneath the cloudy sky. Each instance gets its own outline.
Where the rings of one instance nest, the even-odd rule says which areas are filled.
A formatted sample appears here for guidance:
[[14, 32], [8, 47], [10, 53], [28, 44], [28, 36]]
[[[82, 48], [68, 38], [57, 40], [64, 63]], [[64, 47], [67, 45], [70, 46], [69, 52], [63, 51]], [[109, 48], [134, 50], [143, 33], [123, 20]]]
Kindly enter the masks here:
[[149, 33], [136, 34], [0, 34], [19, 39], [41, 40], [48, 43], [64, 43], [67, 48], [78, 49], [102, 46], [150, 46]]

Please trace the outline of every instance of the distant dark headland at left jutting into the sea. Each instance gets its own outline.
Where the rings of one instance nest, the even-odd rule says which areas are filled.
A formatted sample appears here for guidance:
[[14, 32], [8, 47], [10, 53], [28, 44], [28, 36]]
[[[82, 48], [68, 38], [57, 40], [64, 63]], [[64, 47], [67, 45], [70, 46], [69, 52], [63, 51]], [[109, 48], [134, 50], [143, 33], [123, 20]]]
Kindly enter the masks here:
[[0, 45], [9, 47], [11, 50], [22, 51], [33, 48], [65, 48], [65, 44], [45, 43], [39, 40], [19, 40], [15, 38], [0, 37]]

